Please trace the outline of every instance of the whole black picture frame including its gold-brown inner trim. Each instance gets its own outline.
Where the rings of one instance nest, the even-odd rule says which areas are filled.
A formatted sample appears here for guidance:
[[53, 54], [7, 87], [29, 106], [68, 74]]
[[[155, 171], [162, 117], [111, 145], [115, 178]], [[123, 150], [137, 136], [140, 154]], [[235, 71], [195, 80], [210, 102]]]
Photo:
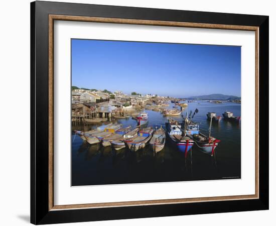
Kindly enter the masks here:
[[[254, 31], [255, 194], [55, 205], [53, 37], [56, 20]], [[268, 20], [267, 16], [255, 15], [40, 1], [31, 3], [31, 223], [268, 209]]]

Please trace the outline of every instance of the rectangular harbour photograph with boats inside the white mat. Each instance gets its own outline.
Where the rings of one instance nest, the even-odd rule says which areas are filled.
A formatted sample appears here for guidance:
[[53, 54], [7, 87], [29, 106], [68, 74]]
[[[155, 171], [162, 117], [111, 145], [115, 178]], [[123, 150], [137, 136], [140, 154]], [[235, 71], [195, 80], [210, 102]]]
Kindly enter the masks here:
[[241, 178], [241, 47], [71, 39], [71, 186]]

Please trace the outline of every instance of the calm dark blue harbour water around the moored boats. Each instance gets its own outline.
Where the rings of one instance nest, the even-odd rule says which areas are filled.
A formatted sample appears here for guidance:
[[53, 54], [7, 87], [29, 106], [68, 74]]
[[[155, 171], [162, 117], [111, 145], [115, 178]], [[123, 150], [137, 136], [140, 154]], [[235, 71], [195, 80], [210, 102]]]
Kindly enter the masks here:
[[[193, 121], [206, 131], [209, 128], [206, 117], [208, 111], [222, 116], [225, 110], [229, 110], [234, 116], [240, 116], [238, 103], [214, 104], [200, 100], [188, 104], [183, 116], [186, 116], [186, 112], [189, 114], [190, 110], [198, 108], [199, 112]], [[170, 104], [169, 108], [173, 105]], [[159, 111], [146, 112], [149, 114], [149, 126], [162, 125], [165, 128], [168, 120]], [[182, 122], [181, 116], [173, 118]], [[113, 123], [115, 122], [123, 126], [136, 126], [136, 121], [131, 118]], [[95, 125], [72, 125], [72, 130], [87, 131], [93, 128]], [[168, 141], [165, 148], [154, 156], [150, 146], [135, 153], [127, 148], [115, 151], [111, 147], [90, 146], [72, 133], [72, 186], [240, 178], [240, 125], [222, 119], [220, 123], [212, 124], [211, 135], [221, 140], [215, 157], [202, 153], [194, 145], [192, 155], [188, 155], [185, 161], [184, 155]]]

